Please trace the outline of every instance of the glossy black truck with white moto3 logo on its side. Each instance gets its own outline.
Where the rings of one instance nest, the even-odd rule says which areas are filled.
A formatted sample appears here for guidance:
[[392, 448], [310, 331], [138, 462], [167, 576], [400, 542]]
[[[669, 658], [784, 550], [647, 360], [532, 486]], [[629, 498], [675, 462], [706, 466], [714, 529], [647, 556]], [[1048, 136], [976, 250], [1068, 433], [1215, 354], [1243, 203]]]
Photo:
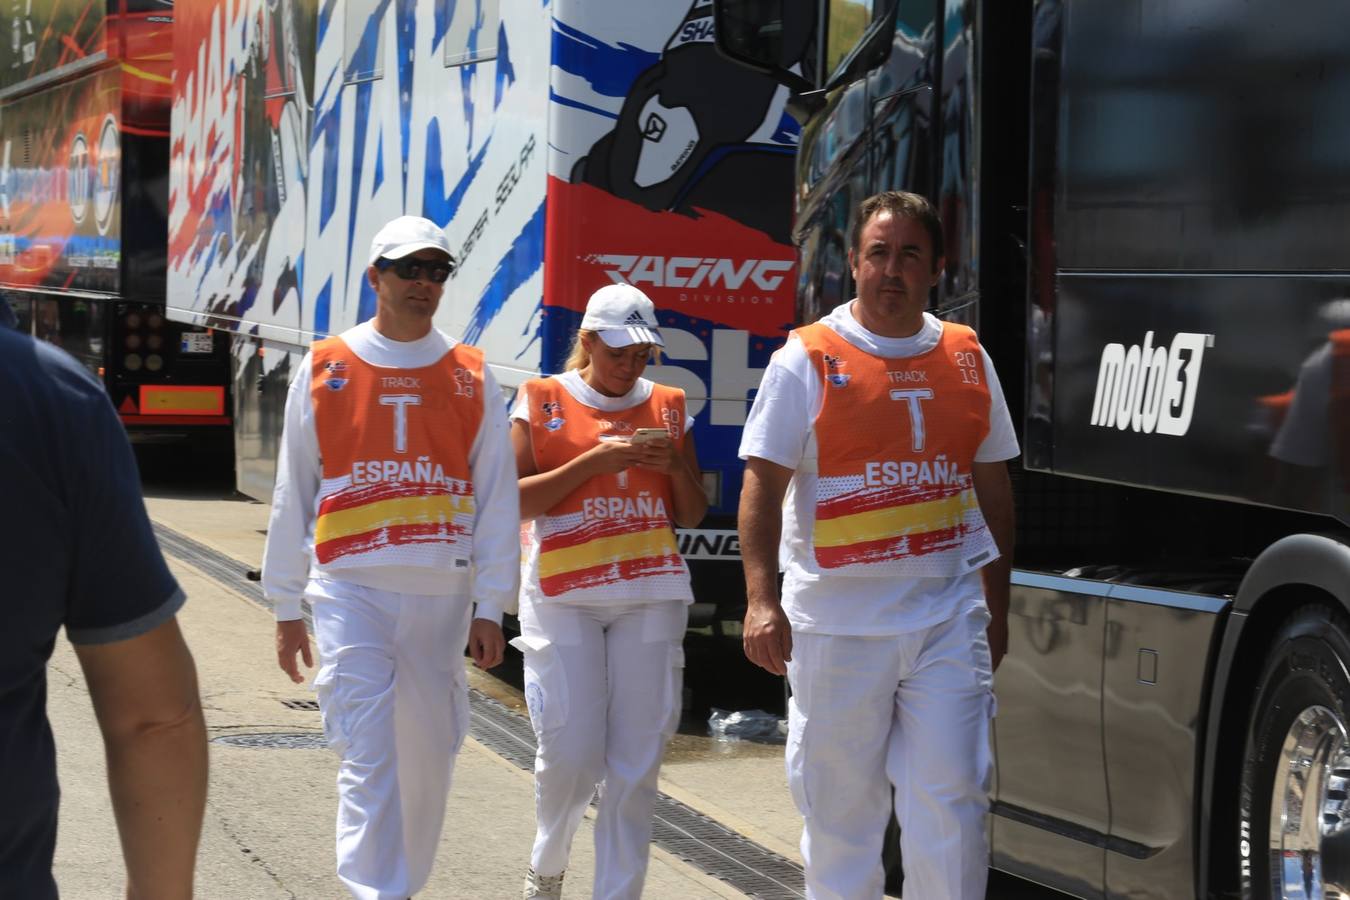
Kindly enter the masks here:
[[803, 123], [801, 321], [857, 202], [1021, 416], [992, 864], [1350, 896], [1350, 18], [1310, 0], [717, 0]]

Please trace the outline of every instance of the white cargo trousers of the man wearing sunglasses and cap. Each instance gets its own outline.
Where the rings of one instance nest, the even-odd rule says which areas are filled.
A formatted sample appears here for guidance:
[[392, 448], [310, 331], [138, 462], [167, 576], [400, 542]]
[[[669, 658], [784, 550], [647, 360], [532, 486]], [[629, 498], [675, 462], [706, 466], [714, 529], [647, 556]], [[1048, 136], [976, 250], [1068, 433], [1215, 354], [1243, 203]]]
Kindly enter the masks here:
[[455, 754], [468, 733], [467, 596], [323, 582], [315, 677], [338, 769], [338, 877], [393, 900], [431, 876]]

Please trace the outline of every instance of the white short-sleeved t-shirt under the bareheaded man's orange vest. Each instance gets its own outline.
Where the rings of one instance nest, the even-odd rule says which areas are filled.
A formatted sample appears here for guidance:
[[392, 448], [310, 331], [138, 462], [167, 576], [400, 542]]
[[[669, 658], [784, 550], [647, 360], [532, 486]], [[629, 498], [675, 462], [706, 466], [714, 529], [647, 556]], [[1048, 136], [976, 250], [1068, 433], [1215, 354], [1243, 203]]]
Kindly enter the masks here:
[[[926, 354], [942, 337], [942, 322], [925, 313], [923, 327], [910, 337], [882, 337], [863, 328], [849, 312], [836, 306], [824, 321], [859, 349], [884, 359]], [[981, 347], [983, 352], [983, 347]], [[998, 375], [984, 355], [990, 389], [990, 433], [975, 453], [976, 463], [1013, 459], [1017, 433]], [[794, 470], [783, 499], [783, 610], [799, 631], [822, 634], [903, 634], [946, 621], [963, 609], [984, 602], [979, 572], [953, 578], [859, 578], [822, 575], [811, 552], [815, 525], [817, 447], [813, 424], [821, 412], [824, 385], [796, 336], [770, 359], [745, 430], [741, 459], [757, 456]]]

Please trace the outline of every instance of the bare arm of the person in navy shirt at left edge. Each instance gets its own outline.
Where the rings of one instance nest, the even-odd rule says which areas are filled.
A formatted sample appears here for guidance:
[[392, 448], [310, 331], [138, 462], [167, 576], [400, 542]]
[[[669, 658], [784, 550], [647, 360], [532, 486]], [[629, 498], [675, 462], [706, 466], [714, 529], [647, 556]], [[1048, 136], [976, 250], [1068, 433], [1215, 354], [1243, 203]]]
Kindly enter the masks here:
[[177, 619], [76, 645], [108, 758], [127, 897], [190, 897], [207, 806], [207, 726]]

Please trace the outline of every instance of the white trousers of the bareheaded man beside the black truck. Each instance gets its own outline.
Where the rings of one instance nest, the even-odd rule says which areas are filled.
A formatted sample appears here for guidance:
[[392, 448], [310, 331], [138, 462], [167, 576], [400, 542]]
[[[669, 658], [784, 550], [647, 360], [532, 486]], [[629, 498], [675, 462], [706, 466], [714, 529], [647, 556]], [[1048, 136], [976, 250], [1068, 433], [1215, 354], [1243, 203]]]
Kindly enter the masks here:
[[792, 636], [787, 781], [811, 900], [882, 896], [892, 785], [906, 900], [983, 900], [988, 621], [980, 606], [909, 634]]

